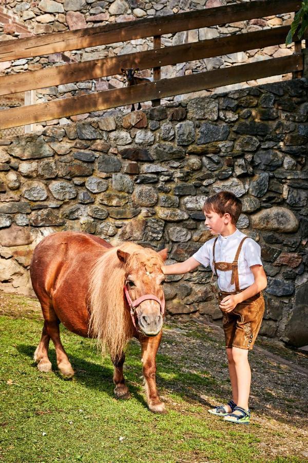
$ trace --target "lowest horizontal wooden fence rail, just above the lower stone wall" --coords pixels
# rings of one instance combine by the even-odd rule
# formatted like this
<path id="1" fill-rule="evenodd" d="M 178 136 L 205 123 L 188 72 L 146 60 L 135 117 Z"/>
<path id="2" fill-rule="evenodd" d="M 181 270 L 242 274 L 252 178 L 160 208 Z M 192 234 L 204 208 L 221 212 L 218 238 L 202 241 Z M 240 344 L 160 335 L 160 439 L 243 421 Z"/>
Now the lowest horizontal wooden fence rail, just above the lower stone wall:
<path id="1" fill-rule="evenodd" d="M 116 108 L 117 106 L 139 101 L 198 92 L 247 80 L 291 73 L 302 68 L 302 55 L 294 54 L 283 58 L 268 59 L 224 69 L 215 69 L 205 73 L 191 74 L 190 76 L 162 79 L 157 82 L 117 88 L 116 90 L 22 106 L 22 108 L 0 111 L 0 129 Z"/>

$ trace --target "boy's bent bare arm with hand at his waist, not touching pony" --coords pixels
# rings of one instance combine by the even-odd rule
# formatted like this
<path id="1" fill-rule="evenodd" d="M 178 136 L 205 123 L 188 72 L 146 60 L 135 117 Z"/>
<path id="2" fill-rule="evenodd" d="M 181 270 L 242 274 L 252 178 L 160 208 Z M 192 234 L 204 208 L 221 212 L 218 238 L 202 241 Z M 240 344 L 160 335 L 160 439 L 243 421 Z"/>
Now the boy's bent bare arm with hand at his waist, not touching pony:
<path id="1" fill-rule="evenodd" d="M 262 265 L 252 265 L 251 271 L 253 272 L 255 281 L 251 286 L 242 291 L 239 294 L 234 294 L 232 296 L 226 296 L 220 302 L 220 308 L 224 312 L 231 312 L 239 302 L 243 302 L 249 297 L 255 296 L 257 293 L 262 291 L 267 286 L 267 278 Z"/>

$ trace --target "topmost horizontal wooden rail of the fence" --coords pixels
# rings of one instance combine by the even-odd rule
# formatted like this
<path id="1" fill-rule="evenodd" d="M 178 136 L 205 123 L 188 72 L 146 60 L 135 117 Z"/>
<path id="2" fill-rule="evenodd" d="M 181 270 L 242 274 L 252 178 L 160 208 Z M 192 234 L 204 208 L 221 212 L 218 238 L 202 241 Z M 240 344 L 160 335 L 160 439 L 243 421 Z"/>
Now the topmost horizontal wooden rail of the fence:
<path id="1" fill-rule="evenodd" d="M 244 2 L 124 24 L 108 24 L 74 31 L 53 32 L 34 38 L 17 39 L 17 41 L 9 40 L 1 43 L 0 62 L 289 13 L 298 10 L 300 6 L 300 0 L 256 0 L 249 4 Z"/>

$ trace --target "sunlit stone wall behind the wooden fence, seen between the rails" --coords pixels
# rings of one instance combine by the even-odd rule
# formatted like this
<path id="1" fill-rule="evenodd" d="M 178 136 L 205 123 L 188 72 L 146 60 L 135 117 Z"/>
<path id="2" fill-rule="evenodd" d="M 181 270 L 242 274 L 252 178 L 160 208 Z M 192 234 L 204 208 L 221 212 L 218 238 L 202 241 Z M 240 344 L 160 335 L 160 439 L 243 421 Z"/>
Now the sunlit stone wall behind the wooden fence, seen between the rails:
<path id="1" fill-rule="evenodd" d="M 244 0 L 240 0 L 244 1 Z M 0 7 L 0 41 L 16 39 L 18 37 L 29 37 L 32 34 L 57 32 L 64 30 L 74 30 L 84 27 L 111 24 L 117 22 L 133 21 L 144 17 L 162 16 L 167 14 L 177 14 L 183 11 L 193 11 L 203 8 L 218 7 L 234 3 L 233 0 L 32 0 L 16 1 L 6 0 L 4 7 Z M 1 14 L 3 12 L 3 14 Z M 5 13 L 5 14 L 4 14 Z M 3 17 L 11 18 L 9 22 Z M 178 32 L 176 34 L 166 34 L 162 37 L 162 46 L 180 45 L 187 42 L 223 37 L 237 33 L 252 32 L 266 28 L 273 28 L 281 25 L 290 24 L 291 14 L 280 14 L 269 16 L 266 19 L 254 19 L 250 21 L 236 22 L 225 26 L 205 27 L 190 31 Z M 24 32 L 22 27 L 27 28 Z M 152 38 L 132 40 L 130 42 L 120 42 L 104 46 L 89 47 L 82 50 L 72 50 L 63 53 L 55 53 L 49 56 L 35 58 L 23 58 L 15 61 L 0 63 L 0 75 L 21 73 L 25 70 L 36 70 L 43 67 L 50 67 L 59 64 L 87 61 L 97 58 L 119 56 L 127 53 L 145 51 L 152 48 Z M 205 70 L 228 67 L 231 65 L 265 60 L 271 57 L 291 55 L 292 47 L 285 47 L 284 44 L 265 47 L 263 49 L 238 52 L 230 55 L 223 55 L 204 60 L 180 63 L 175 66 L 162 67 L 161 78 L 171 78 L 184 76 Z M 152 70 L 142 71 L 140 77 L 151 77 Z M 276 76 L 275 81 L 290 78 L 289 75 Z M 243 85 L 257 85 L 273 81 L 273 78 L 249 81 L 244 84 L 234 84 L 231 88 L 241 88 Z M 74 82 L 64 85 L 43 88 L 36 92 L 37 102 L 47 102 L 54 98 L 68 98 L 94 91 L 110 90 L 126 85 L 123 76 L 110 76 L 84 82 Z M 222 90 L 222 89 L 221 89 Z M 221 91 L 220 90 L 220 91 Z M 230 89 L 229 89 L 230 90 Z M 211 91 L 203 91 L 198 95 L 210 95 Z M 162 104 L 168 101 L 181 101 L 183 99 L 197 95 L 179 95 L 162 100 Z M 3 100 L 3 102 L 2 102 Z M 0 98 L 0 106 L 12 106 L 11 101 Z M 142 103 L 143 108 L 150 106 L 150 102 Z M 70 118 L 48 121 L 47 125 L 57 123 L 65 124 L 69 121 L 79 121 L 88 117 L 101 115 L 102 112 L 86 113 Z M 42 126 L 46 126 L 43 123 Z M 36 130 L 40 129 L 36 126 Z"/>

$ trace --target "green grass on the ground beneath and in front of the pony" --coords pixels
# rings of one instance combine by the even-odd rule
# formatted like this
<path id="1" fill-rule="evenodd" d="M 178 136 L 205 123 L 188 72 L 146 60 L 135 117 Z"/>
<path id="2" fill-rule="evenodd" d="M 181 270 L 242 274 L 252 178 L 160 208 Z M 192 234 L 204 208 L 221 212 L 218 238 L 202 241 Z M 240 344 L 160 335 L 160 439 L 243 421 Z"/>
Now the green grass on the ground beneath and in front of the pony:
<path id="1" fill-rule="evenodd" d="M 155 415 L 144 400 L 140 348 L 131 343 L 125 376 L 128 401 L 113 396 L 112 365 L 102 363 L 92 341 L 62 330 L 74 369 L 66 381 L 56 371 L 41 373 L 33 364 L 42 321 L 0 317 L 0 461 L 197 462 L 261 461 L 254 427 L 245 430 L 208 416 L 196 389 L 209 393 L 219 384 L 208 372 L 186 373 L 159 354 L 158 386 L 168 413 Z M 252 431 L 253 430 L 253 431 Z M 256 428 L 257 430 L 257 428 Z M 262 460 L 263 461 L 263 460 Z M 277 463 L 295 463 L 296 457 Z"/>

